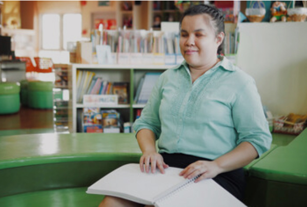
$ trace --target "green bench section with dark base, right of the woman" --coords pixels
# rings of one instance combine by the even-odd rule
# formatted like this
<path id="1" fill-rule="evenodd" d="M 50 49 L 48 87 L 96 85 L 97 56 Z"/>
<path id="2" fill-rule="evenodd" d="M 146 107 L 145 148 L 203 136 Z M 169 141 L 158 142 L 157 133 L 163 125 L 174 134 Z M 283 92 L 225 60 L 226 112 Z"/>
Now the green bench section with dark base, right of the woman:
<path id="1" fill-rule="evenodd" d="M 253 207 L 307 206 L 307 129 L 252 165 L 246 200 Z"/>

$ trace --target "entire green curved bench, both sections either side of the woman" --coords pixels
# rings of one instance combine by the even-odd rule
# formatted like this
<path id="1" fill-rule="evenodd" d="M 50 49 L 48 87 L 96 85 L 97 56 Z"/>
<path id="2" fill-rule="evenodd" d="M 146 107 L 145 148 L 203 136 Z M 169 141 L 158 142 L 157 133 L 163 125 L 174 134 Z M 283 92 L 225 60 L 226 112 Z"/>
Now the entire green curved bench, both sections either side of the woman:
<path id="1" fill-rule="evenodd" d="M 307 131 L 244 167 L 251 207 L 307 206 Z M 134 134 L 29 134 L 0 137 L 0 206 L 97 206 L 86 189 L 139 161 Z"/>

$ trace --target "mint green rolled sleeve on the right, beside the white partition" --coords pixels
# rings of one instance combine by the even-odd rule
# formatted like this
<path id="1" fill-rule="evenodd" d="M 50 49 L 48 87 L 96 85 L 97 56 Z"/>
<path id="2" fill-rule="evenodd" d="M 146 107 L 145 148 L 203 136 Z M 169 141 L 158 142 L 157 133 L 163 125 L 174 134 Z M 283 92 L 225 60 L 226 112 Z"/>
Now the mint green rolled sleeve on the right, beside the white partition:
<path id="1" fill-rule="evenodd" d="M 238 133 L 237 144 L 250 142 L 259 157 L 270 149 L 272 135 L 253 79 L 236 94 L 232 116 Z"/>

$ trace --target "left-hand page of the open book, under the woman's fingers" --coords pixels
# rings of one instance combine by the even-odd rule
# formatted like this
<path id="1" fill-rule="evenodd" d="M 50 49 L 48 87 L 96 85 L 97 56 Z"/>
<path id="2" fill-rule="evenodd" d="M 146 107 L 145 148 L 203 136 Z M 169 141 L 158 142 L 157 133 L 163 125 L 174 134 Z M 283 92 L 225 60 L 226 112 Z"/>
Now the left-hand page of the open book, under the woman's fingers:
<path id="1" fill-rule="evenodd" d="M 165 174 L 142 173 L 139 164 L 126 164 L 101 178 L 87 193 L 112 195 L 143 204 L 153 204 L 162 192 L 176 188 L 187 179 L 179 176 L 182 169 L 167 168 Z"/>

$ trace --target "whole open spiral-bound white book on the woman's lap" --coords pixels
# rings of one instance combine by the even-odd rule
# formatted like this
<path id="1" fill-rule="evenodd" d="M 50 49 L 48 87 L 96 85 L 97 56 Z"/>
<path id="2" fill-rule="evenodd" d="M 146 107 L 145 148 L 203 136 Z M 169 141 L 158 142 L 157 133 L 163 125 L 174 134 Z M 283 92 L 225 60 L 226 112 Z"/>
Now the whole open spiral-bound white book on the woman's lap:
<path id="1" fill-rule="evenodd" d="M 169 167 L 165 174 L 142 173 L 139 164 L 126 164 L 92 184 L 87 193 L 109 195 L 156 207 L 244 207 L 213 179 L 194 182 L 198 177 L 179 176 L 180 168 Z M 246 206 L 245 206 L 246 207 Z"/>

